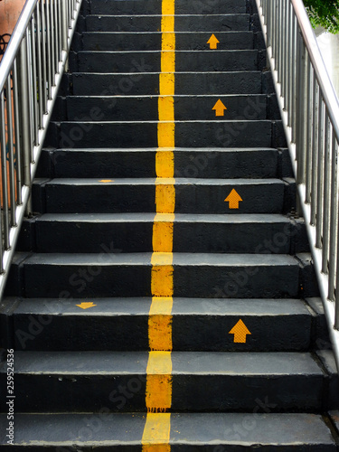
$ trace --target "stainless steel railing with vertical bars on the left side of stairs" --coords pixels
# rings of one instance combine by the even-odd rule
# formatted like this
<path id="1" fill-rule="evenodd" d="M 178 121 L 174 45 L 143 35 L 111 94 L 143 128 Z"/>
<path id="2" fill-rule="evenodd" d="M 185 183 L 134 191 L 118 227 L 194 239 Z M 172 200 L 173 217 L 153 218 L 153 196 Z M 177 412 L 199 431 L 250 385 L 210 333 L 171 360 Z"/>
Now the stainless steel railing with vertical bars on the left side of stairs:
<path id="1" fill-rule="evenodd" d="M 0 62 L 0 298 L 81 0 L 27 0 Z"/>

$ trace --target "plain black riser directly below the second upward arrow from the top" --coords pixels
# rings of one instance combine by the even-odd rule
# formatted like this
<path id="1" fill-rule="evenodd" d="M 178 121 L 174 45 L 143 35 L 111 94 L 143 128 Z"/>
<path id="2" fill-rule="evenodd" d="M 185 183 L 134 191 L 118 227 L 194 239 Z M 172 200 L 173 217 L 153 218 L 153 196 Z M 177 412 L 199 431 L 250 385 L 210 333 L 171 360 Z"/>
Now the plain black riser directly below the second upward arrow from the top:
<path id="1" fill-rule="evenodd" d="M 45 146 L 54 147 L 156 147 L 158 121 L 52 122 Z M 283 147 L 279 122 L 240 119 L 224 121 L 175 121 L 174 140 L 178 147 Z"/>

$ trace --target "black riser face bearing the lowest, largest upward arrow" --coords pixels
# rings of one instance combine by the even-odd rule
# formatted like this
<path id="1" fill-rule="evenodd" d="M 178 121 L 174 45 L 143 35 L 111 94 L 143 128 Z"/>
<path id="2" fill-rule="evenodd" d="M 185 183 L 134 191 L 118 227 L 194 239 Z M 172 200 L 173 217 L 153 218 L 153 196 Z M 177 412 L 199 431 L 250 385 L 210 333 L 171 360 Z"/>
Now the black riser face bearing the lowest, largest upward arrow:
<path id="1" fill-rule="evenodd" d="M 93 309 L 81 315 L 49 315 L 48 308 L 41 315 L 15 314 L 15 350 L 148 350 L 148 315 L 90 315 Z M 251 333 L 246 344 L 234 343 L 229 334 L 240 318 Z M 173 349 L 183 352 L 306 351 L 310 336 L 310 315 L 174 315 L 172 321 Z"/>

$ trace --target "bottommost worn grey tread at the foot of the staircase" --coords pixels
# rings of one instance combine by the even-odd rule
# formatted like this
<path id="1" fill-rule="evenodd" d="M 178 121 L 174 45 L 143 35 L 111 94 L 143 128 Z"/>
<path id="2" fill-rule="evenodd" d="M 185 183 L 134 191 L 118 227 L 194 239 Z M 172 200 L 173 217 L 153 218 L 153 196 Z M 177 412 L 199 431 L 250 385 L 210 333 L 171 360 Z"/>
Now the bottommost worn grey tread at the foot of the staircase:
<path id="1" fill-rule="evenodd" d="M 259 400 L 262 403 L 262 400 Z M 171 414 L 172 450 L 241 452 L 334 452 L 330 429 L 320 415 L 299 413 L 183 413 Z M 269 408 L 267 408 L 269 410 Z M 5 415 L 0 415 L 5 423 Z M 140 450 L 146 415 L 142 413 L 16 414 L 14 445 L 34 450 L 56 447 L 96 447 L 98 450 Z M 90 438 L 89 438 L 90 436 Z M 5 434 L 0 437 L 3 450 Z M 43 445 L 43 446 L 42 446 Z M 226 448 L 225 448 L 226 447 Z M 13 447 L 12 447 L 13 450 Z"/>

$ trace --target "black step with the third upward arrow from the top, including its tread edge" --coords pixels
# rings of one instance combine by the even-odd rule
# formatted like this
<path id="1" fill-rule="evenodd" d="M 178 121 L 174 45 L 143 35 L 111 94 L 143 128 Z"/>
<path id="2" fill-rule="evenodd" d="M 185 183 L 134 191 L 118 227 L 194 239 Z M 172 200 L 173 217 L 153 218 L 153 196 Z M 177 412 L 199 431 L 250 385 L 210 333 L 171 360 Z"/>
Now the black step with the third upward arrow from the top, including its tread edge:
<path id="1" fill-rule="evenodd" d="M 279 179 L 52 179 L 35 180 L 33 209 L 42 213 L 155 212 L 156 186 L 173 185 L 176 213 L 280 213 Z M 235 190 L 242 201 L 225 201 Z M 160 212 L 161 213 L 161 212 Z"/>

